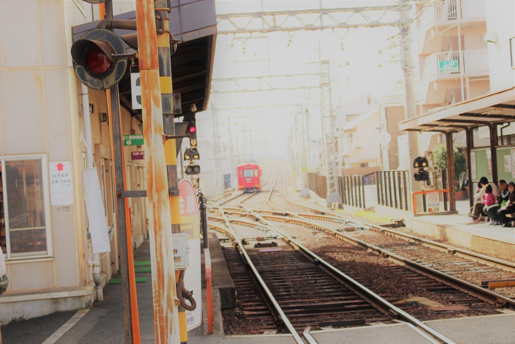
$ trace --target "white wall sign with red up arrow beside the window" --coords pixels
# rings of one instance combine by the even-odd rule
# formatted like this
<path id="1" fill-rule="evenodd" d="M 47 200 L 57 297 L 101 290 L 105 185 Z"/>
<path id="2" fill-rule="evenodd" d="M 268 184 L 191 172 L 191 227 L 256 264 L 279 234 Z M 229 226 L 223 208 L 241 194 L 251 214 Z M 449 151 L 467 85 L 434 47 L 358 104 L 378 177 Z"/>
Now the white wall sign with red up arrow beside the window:
<path id="1" fill-rule="evenodd" d="M 50 175 L 50 204 L 73 204 L 72 162 L 50 161 L 48 163 Z"/>

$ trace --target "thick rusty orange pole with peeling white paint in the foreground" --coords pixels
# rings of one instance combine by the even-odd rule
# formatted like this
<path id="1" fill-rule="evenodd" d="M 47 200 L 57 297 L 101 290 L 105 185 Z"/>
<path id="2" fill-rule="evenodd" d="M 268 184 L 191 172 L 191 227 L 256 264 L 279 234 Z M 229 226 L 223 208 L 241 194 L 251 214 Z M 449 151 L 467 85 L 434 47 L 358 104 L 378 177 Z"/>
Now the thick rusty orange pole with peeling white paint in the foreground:
<path id="1" fill-rule="evenodd" d="M 161 85 L 152 0 L 136 1 L 140 60 L 143 136 L 147 169 L 150 265 L 156 343 L 179 343 L 176 277 L 170 225 L 170 203 L 161 105 Z"/>

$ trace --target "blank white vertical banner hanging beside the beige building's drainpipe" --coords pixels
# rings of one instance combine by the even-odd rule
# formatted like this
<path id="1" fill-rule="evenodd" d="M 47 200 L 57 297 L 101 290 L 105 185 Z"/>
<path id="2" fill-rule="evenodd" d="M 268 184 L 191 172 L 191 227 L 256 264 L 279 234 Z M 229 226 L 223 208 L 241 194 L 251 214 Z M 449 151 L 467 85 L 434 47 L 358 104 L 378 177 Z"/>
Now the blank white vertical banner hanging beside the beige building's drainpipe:
<path id="1" fill-rule="evenodd" d="M 91 235 L 93 253 L 111 252 L 109 244 L 109 228 L 104 212 L 104 202 L 100 193 L 100 181 L 96 168 L 82 171 L 84 198 L 88 211 L 88 224 Z"/>

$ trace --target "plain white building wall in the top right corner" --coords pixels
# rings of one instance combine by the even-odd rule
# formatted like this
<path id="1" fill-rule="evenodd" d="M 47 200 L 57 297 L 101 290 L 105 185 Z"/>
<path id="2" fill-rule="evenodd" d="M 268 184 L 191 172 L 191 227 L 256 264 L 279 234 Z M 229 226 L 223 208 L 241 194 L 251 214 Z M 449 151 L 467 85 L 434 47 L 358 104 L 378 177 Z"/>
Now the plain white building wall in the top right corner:
<path id="1" fill-rule="evenodd" d="M 515 37 L 513 13 L 515 2 L 512 0 L 486 2 L 487 34 L 497 36 L 495 43 L 487 43 L 491 92 L 515 86 L 515 69 L 511 67 L 509 46 L 510 38 Z"/>

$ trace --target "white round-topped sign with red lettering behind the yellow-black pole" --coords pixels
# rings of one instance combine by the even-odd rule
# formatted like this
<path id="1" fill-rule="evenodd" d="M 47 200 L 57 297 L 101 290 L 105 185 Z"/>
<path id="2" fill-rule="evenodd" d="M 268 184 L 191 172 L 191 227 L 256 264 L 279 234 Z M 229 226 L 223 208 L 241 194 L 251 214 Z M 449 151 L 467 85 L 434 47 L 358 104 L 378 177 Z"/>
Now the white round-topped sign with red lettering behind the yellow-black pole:
<path id="1" fill-rule="evenodd" d="M 200 270 L 200 212 L 198 210 L 197 193 L 190 181 L 179 182 L 179 214 L 181 233 L 188 235 L 190 265 L 184 273 L 184 287 L 193 290 L 193 298 L 197 308 L 193 312 L 186 310 L 187 330 L 193 330 L 202 323 L 202 281 Z"/>

